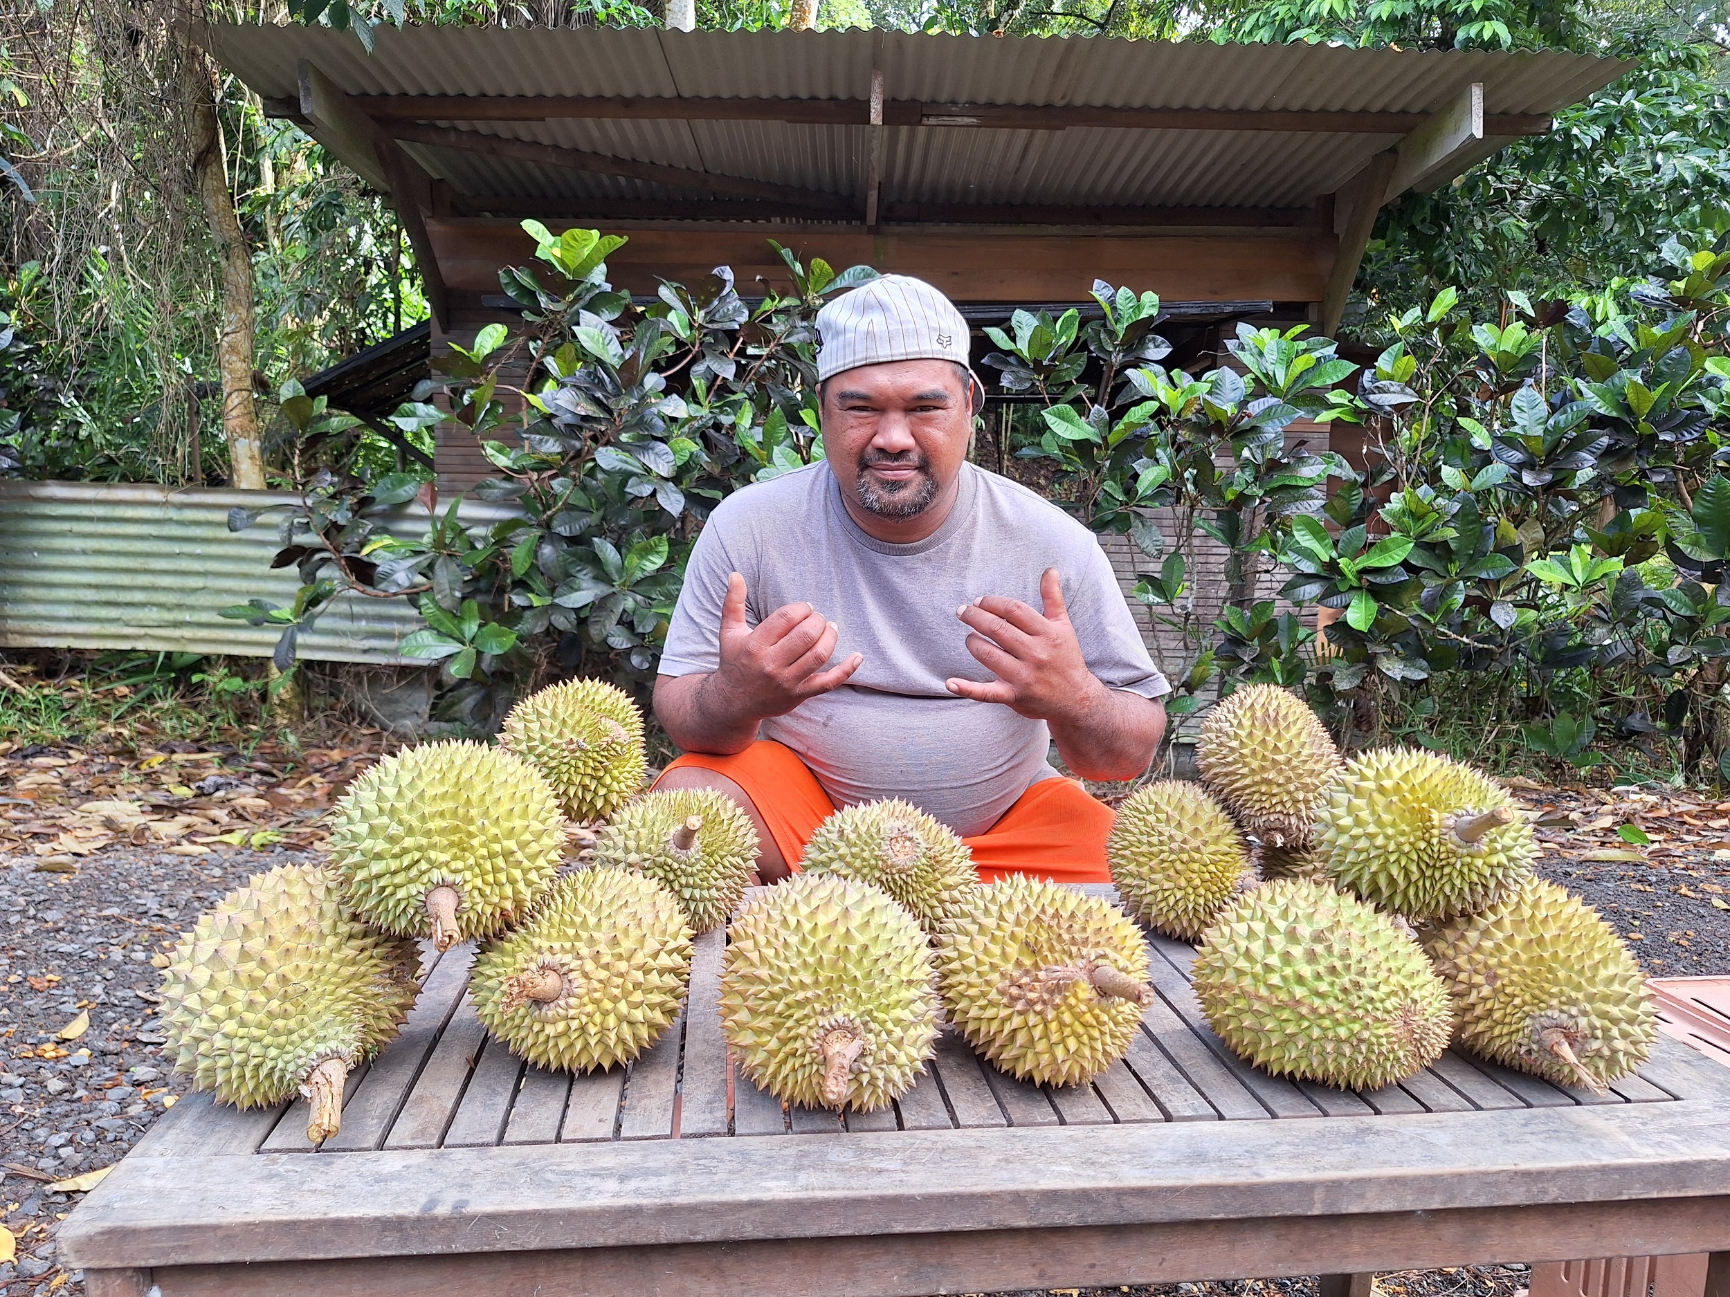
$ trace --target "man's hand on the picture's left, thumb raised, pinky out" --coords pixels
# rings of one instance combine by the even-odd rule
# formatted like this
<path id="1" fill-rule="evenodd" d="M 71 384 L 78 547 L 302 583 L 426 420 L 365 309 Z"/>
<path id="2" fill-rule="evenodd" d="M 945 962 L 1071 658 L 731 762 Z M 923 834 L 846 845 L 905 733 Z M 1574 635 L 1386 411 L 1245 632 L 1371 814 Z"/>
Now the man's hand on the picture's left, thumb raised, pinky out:
<path id="1" fill-rule="evenodd" d="M 775 609 L 756 628 L 746 623 L 746 579 L 727 578 L 721 602 L 721 664 L 702 687 L 704 704 L 720 704 L 740 721 L 784 716 L 806 699 L 848 681 L 865 657 L 851 654 L 823 669 L 836 650 L 839 628 L 810 604 Z"/>

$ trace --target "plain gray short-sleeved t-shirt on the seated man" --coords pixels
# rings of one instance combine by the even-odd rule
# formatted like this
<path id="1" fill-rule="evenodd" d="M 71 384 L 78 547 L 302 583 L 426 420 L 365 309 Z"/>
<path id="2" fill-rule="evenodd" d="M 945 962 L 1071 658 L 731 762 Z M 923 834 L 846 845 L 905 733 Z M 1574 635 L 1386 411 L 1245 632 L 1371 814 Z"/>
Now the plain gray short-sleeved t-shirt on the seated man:
<path id="1" fill-rule="evenodd" d="M 955 610 L 979 595 L 1040 609 L 1047 567 L 1062 576 L 1088 669 L 1147 699 L 1169 692 L 1093 534 L 972 463 L 943 526 L 913 545 L 860 531 L 822 462 L 730 495 L 697 536 L 661 673 L 720 666 L 728 572 L 746 579 L 753 626 L 784 604 L 810 604 L 841 628 L 830 666 L 853 652 L 865 662 L 841 688 L 763 721 L 759 735 L 798 752 L 837 806 L 905 797 L 957 834 L 981 834 L 1057 771 L 1045 759 L 1045 721 L 943 687 L 991 678 L 967 652 Z"/>

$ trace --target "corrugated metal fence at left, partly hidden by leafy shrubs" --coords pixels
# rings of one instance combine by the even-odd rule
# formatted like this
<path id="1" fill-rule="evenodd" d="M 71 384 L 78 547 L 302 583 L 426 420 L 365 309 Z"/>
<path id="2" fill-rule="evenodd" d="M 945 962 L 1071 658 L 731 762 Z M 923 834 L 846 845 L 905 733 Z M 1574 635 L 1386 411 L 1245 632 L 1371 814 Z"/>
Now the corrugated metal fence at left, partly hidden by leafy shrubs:
<path id="1" fill-rule="evenodd" d="M 299 579 L 292 567 L 270 569 L 280 514 L 234 533 L 228 510 L 294 500 L 284 491 L 0 482 L 0 647 L 268 657 L 280 631 L 218 610 L 251 598 L 289 605 Z M 465 502 L 460 517 L 486 524 L 502 512 Z M 426 522 L 419 507 L 391 515 L 405 534 Z M 408 600 L 344 595 L 301 636 L 299 655 L 417 662 L 398 645 L 422 624 Z"/>

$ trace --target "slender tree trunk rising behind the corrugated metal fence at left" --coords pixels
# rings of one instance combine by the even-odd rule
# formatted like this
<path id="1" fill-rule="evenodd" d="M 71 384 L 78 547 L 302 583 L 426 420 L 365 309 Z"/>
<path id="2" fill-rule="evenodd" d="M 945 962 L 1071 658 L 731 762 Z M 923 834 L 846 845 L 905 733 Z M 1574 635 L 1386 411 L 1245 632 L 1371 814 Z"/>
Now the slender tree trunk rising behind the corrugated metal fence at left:
<path id="1" fill-rule="evenodd" d="M 192 135 L 192 176 L 204 202 L 204 220 L 221 259 L 221 330 L 216 368 L 221 375 L 221 434 L 228 443 L 228 484 L 265 489 L 265 455 L 253 405 L 253 254 L 228 192 L 228 156 L 216 119 L 216 85 L 202 50 L 187 45 L 182 90 Z"/>

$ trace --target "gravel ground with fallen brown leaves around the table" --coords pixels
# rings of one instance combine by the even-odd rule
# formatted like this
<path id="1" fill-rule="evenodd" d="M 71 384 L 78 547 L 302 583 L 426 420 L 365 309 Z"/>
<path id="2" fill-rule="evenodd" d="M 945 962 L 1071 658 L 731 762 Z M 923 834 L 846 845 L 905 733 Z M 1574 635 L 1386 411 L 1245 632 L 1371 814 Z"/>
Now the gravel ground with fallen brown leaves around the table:
<path id="1" fill-rule="evenodd" d="M 320 820 L 382 751 L 0 752 L 0 1211 L 7 1297 L 81 1294 L 50 1188 L 118 1162 L 187 1089 L 163 1058 L 151 955 L 247 875 L 315 859 Z M 1585 896 L 1659 975 L 1730 974 L 1730 802 L 1519 789 L 1545 875 Z M 1624 840 L 1624 827 L 1645 842 Z M 0 1240 L 3 1245 L 3 1240 Z M 1524 1266 L 1384 1275 L 1389 1297 L 1515 1297 Z M 1313 1280 L 1067 1290 L 1064 1297 L 1313 1297 Z M 1033 1297 L 1033 1295 L 1016 1295 Z M 1040 1295 L 1043 1297 L 1043 1295 Z"/>

